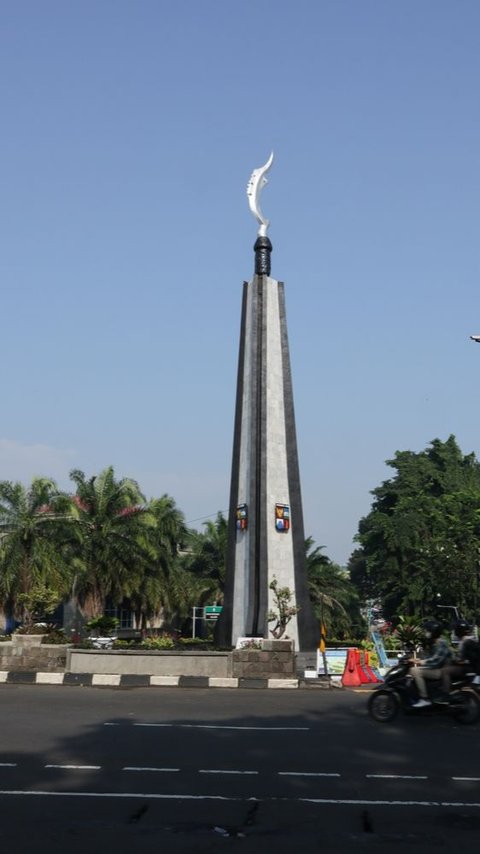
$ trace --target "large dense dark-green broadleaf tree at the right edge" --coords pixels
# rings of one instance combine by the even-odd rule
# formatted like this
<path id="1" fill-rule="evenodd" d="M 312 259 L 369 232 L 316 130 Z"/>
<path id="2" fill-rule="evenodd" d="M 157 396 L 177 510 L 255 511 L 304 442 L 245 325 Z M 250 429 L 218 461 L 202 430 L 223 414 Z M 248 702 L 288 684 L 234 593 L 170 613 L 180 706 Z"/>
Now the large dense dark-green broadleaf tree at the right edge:
<path id="1" fill-rule="evenodd" d="M 450 436 L 420 453 L 397 451 L 387 465 L 395 476 L 373 490 L 372 509 L 359 524 L 355 583 L 380 599 L 389 617 L 431 614 L 436 604 L 474 617 L 479 463 Z"/>

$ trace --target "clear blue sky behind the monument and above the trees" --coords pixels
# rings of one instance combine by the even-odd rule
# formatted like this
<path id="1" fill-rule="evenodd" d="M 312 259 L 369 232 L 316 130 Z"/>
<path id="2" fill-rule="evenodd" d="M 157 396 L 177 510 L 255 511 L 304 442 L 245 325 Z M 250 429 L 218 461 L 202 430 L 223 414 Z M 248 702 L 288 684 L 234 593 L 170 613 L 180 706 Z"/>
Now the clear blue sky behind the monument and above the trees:
<path id="1" fill-rule="evenodd" d="M 343 563 L 397 449 L 479 454 L 479 34 L 477 0 L 1 3 L 0 479 L 227 510 L 272 149 L 306 533 Z"/>

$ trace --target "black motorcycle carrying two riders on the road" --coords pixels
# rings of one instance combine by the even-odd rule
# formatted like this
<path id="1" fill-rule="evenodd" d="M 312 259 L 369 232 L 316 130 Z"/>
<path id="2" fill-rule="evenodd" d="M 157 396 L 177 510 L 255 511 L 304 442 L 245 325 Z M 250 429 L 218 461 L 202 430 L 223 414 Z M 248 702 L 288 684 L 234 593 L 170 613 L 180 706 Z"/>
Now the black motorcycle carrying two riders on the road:
<path id="1" fill-rule="evenodd" d="M 443 712 L 450 714 L 458 723 L 475 724 L 480 718 L 480 699 L 476 690 L 479 686 L 474 684 L 475 678 L 474 673 L 467 673 L 453 681 L 447 702 L 436 683 L 427 683 L 432 705 L 416 709 L 414 703 L 418 700 L 418 694 L 410 675 L 410 659 L 405 656 L 387 672 L 384 682 L 370 694 L 368 711 L 378 723 L 390 723 L 402 710 L 412 714 Z"/>

